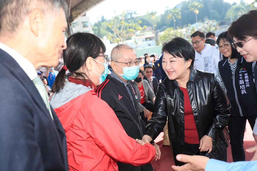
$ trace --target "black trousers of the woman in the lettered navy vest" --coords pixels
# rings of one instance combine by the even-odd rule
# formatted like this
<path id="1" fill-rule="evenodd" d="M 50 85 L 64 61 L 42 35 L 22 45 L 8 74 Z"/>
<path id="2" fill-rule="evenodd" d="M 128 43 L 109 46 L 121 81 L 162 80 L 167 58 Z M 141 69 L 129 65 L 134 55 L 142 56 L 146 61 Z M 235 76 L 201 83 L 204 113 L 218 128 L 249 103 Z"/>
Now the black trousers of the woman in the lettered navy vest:
<path id="1" fill-rule="evenodd" d="M 254 129 L 255 119 L 257 115 L 246 117 L 233 117 L 230 115 L 228 121 L 228 130 L 230 135 L 230 145 L 232 151 L 233 162 L 245 161 L 244 153 L 244 131 L 246 126 L 246 119 Z"/>

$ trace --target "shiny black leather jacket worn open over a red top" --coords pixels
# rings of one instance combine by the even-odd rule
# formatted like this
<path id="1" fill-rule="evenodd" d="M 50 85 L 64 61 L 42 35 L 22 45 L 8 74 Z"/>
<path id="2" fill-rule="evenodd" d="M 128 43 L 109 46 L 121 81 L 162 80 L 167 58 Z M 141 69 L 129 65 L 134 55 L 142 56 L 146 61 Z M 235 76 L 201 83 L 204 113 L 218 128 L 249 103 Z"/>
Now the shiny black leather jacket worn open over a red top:
<path id="1" fill-rule="evenodd" d="M 224 88 L 216 75 L 195 69 L 191 69 L 186 86 L 199 141 L 204 135 L 212 137 L 212 151 L 207 156 L 217 158 L 229 142 L 226 126 L 231 106 Z M 168 116 L 174 159 L 177 154 L 184 154 L 184 94 L 176 80 L 166 78 L 159 84 L 153 111 L 146 125 L 146 135 L 154 140 L 164 128 Z M 175 164 L 181 165 L 176 159 Z"/>

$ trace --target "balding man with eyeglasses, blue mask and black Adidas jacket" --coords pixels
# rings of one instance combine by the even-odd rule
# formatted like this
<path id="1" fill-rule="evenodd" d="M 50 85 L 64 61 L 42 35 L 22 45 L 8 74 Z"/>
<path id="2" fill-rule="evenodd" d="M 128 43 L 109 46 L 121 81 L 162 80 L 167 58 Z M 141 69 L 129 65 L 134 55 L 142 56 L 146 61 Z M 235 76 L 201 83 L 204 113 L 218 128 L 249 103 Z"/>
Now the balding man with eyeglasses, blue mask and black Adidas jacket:
<path id="1" fill-rule="evenodd" d="M 114 110 L 128 136 L 142 139 L 145 134 L 145 123 L 139 115 L 139 102 L 136 95 L 134 80 L 138 76 L 139 64 L 136 52 L 128 45 L 119 44 L 111 52 L 113 71 L 95 90 L 97 96 Z M 101 119 L 101 118 L 100 118 Z M 160 148 L 151 142 L 156 149 L 156 158 L 160 159 Z M 133 166 L 118 162 L 119 170 L 153 171 L 151 164 Z"/>

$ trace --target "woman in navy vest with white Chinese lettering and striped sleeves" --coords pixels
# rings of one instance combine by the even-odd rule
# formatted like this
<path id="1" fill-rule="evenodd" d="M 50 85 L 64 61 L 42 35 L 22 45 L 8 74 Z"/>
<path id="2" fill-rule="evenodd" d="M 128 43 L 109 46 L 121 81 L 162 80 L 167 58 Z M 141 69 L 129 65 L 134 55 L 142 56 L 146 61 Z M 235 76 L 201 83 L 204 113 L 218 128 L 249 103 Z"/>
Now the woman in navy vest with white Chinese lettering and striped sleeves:
<path id="1" fill-rule="evenodd" d="M 217 38 L 217 49 L 223 56 L 223 60 L 218 64 L 218 77 L 231 104 L 228 130 L 233 161 L 237 162 L 245 161 L 244 131 L 246 120 L 254 129 L 257 118 L 257 93 L 253 76 L 255 62 L 246 62 L 231 46 L 232 42 L 228 32 L 221 33 Z"/>

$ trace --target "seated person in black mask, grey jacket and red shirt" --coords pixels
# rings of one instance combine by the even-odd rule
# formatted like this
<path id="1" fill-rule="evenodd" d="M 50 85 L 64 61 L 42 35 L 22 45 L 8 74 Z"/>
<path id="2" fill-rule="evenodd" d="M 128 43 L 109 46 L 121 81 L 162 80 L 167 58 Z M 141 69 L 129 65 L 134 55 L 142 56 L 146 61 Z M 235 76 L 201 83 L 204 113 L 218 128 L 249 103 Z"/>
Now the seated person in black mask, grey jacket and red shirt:
<path id="1" fill-rule="evenodd" d="M 152 112 L 154 106 L 154 92 L 152 91 L 149 83 L 143 80 L 144 72 L 139 70 L 138 76 L 134 79 L 134 85 L 136 87 L 136 95 L 139 102 L 139 111 L 142 120 L 146 123 L 148 117 L 150 116 L 150 111 Z"/>

